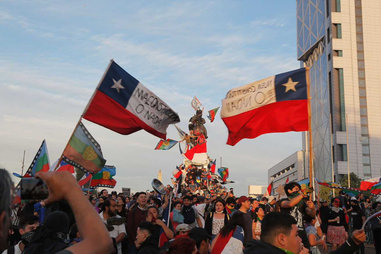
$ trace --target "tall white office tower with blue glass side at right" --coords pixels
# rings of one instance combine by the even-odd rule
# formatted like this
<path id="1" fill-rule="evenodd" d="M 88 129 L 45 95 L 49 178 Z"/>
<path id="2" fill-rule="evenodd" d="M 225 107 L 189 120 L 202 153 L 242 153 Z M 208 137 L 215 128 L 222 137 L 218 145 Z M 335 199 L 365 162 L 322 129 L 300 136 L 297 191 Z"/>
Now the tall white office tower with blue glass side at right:
<path id="1" fill-rule="evenodd" d="M 321 181 L 332 181 L 332 170 L 337 181 L 348 168 L 363 179 L 381 176 L 380 16 L 379 0 L 296 0 L 297 58 L 310 68 L 312 159 Z"/>

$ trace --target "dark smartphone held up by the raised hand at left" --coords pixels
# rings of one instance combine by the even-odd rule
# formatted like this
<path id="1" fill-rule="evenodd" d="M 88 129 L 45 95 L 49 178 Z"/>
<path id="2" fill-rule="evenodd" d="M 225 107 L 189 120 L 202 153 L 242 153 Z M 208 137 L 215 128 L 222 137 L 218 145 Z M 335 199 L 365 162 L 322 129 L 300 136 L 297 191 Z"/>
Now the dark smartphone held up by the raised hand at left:
<path id="1" fill-rule="evenodd" d="M 49 191 L 46 183 L 40 178 L 21 179 L 21 199 L 46 199 Z"/>

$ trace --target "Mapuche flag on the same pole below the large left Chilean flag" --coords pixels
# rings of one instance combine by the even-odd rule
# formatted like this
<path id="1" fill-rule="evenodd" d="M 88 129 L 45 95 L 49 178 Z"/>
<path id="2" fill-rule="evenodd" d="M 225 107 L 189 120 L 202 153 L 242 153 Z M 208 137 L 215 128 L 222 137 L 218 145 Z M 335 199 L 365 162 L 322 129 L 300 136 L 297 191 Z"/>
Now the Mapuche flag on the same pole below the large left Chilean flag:
<path id="1" fill-rule="evenodd" d="M 90 172 L 92 175 L 98 173 L 106 164 L 101 146 L 82 122 L 75 128 L 64 150 L 62 160 L 85 172 Z"/>

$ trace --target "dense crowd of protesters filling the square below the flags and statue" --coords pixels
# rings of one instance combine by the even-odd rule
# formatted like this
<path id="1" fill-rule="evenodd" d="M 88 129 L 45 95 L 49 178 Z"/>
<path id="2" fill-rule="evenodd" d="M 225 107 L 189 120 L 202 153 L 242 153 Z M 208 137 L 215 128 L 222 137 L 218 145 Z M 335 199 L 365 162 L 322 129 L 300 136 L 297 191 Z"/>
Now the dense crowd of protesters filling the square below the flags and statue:
<path id="1" fill-rule="evenodd" d="M 69 172 L 42 172 L 37 177 L 46 182 L 48 198 L 10 206 L 11 180 L 0 170 L 3 253 L 306 254 L 319 253 L 319 244 L 327 249 L 326 241 L 332 244 L 330 253 L 363 253 L 363 206 L 368 214 L 381 209 L 379 202 L 348 200 L 342 193 L 329 204 L 314 203 L 309 201 L 312 187 L 301 192 L 296 182 L 284 186 L 283 199 L 236 197 L 232 188 L 227 191 L 208 180 L 196 192 L 203 187 L 201 179 L 197 181 L 199 172 L 202 175 L 203 169 L 190 166 L 179 180 L 181 190 L 174 182 L 163 195 L 142 191 L 131 197 L 107 190 L 91 196 Z M 351 225 L 346 220 L 349 214 Z M 381 243 L 379 221 L 377 217 L 371 221 L 376 253 Z"/>

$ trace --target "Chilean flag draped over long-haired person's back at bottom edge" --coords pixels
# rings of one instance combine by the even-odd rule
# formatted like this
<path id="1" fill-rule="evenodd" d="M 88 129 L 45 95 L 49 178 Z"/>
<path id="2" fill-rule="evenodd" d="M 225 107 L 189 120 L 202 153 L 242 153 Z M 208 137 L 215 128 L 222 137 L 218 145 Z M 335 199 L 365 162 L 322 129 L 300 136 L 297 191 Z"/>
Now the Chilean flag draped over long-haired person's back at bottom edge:
<path id="1" fill-rule="evenodd" d="M 243 228 L 236 226 L 227 236 L 218 236 L 217 242 L 210 254 L 236 254 L 242 253 L 243 249 Z"/>

